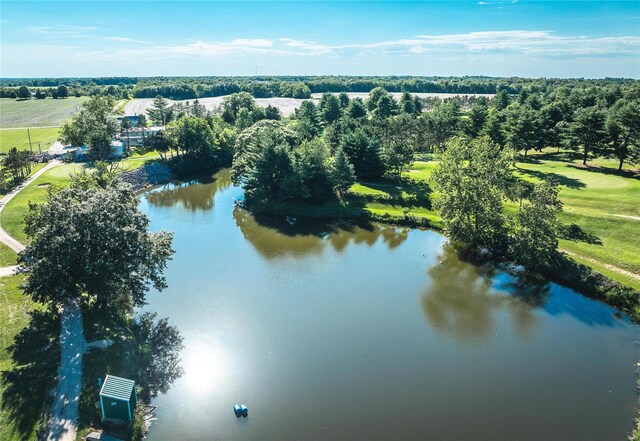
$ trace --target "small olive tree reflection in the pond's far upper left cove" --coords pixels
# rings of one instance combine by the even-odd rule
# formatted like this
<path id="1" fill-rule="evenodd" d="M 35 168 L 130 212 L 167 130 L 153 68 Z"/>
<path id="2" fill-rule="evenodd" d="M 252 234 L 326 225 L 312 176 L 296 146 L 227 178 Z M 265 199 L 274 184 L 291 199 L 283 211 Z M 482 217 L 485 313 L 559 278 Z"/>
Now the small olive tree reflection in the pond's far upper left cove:
<path id="1" fill-rule="evenodd" d="M 230 186 L 231 169 L 224 169 L 210 178 L 165 185 L 145 197 L 151 205 L 158 207 L 180 205 L 191 211 L 208 211 L 213 208 L 216 193 Z"/>

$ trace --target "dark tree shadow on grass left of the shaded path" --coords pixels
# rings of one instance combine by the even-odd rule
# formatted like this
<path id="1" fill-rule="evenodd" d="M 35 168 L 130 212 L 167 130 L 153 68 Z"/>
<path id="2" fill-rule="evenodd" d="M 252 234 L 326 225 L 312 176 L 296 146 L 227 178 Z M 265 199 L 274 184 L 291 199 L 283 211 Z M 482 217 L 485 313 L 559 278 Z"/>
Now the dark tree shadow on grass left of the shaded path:
<path id="1" fill-rule="evenodd" d="M 15 424 L 19 439 L 29 439 L 56 385 L 60 360 L 60 320 L 51 311 L 32 311 L 29 326 L 8 348 L 13 368 L 0 373 L 2 409 Z"/>

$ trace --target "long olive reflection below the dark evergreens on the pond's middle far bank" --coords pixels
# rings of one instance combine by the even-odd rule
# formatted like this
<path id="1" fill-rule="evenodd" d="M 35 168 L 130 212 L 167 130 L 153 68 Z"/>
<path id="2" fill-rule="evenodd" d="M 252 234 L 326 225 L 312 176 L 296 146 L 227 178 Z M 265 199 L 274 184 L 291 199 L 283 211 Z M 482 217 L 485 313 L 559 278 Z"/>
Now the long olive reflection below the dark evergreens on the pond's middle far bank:
<path id="1" fill-rule="evenodd" d="M 244 237 L 265 258 L 319 255 L 327 246 L 341 252 L 350 243 L 373 246 L 382 238 L 389 249 L 402 244 L 408 228 L 378 224 L 354 225 L 319 219 L 291 218 L 257 214 L 236 208 L 236 225 Z"/>

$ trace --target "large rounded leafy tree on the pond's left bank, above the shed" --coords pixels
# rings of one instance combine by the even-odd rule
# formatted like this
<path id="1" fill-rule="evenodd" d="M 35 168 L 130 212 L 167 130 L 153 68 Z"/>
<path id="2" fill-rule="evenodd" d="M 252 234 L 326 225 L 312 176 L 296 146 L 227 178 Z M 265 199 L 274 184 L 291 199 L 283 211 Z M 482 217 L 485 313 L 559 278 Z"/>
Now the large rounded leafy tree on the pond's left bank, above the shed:
<path id="1" fill-rule="evenodd" d="M 171 233 L 150 233 L 133 190 L 78 183 L 49 192 L 25 218 L 25 293 L 39 302 L 145 302 L 173 253 Z"/>

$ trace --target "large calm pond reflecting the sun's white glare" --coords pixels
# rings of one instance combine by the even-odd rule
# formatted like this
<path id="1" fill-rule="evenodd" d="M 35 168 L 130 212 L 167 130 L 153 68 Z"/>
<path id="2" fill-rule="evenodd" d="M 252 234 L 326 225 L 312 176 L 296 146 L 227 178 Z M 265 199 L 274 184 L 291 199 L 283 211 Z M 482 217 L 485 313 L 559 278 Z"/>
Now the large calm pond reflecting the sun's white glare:
<path id="1" fill-rule="evenodd" d="M 149 440 L 625 439 L 638 328 L 445 237 L 260 219 L 228 171 L 142 198 L 175 231 L 148 309 L 185 338 Z M 232 407 L 245 404 L 249 417 Z"/>

